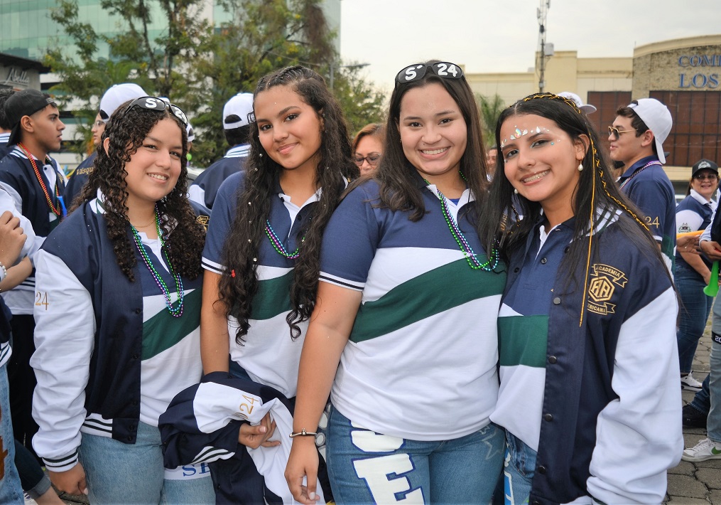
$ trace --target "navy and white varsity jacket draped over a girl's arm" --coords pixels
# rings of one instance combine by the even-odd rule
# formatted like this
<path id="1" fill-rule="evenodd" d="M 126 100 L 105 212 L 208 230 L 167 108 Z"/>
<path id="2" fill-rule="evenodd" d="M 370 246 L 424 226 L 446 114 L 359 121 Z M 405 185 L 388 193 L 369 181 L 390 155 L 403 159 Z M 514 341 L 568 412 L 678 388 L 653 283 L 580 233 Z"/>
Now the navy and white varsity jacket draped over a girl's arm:
<path id="1" fill-rule="evenodd" d="M 260 423 L 268 412 L 276 424 L 271 440 L 280 445 L 239 444 L 240 425 Z M 210 463 L 217 504 L 297 503 L 283 476 L 291 453 L 293 403 L 273 387 L 213 372 L 176 395 L 159 428 L 167 468 Z M 317 493 L 326 503 L 330 487 L 320 456 L 319 462 Z"/>

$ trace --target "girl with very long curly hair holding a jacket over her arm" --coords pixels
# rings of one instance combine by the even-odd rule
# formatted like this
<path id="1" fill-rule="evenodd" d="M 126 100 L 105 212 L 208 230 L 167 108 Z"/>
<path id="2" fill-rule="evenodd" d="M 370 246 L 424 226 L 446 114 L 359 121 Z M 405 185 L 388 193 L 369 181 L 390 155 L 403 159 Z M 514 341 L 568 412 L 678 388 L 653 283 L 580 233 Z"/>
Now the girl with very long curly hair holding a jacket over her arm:
<path id="1" fill-rule="evenodd" d="M 315 71 L 291 66 L 268 74 L 253 108 L 248 161 L 218 190 L 203 250 L 200 352 L 205 374 L 219 372 L 205 379 L 230 374 L 292 399 L 315 307 L 322 234 L 358 168 L 340 106 Z M 288 433 L 273 436 L 275 421 L 241 423 L 236 442 L 254 449 L 289 442 Z M 248 456 L 244 447 L 229 450 L 236 459 Z M 251 471 L 257 475 L 243 474 L 246 487 Z M 221 492 L 237 501 L 232 486 L 226 482 Z M 282 487 L 273 491 L 288 494 Z"/>

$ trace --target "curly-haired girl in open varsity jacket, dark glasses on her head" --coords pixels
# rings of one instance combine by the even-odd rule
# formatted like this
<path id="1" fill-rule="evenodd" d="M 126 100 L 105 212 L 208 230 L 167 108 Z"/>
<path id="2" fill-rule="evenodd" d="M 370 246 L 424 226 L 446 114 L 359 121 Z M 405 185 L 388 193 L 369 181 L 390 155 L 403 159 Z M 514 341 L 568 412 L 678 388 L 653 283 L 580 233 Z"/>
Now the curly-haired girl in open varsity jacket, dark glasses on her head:
<path id="1" fill-rule="evenodd" d="M 33 446 L 93 504 L 212 504 L 207 467 L 166 470 L 158 418 L 198 382 L 201 224 L 185 198 L 182 111 L 113 113 L 80 205 L 37 253 Z"/>

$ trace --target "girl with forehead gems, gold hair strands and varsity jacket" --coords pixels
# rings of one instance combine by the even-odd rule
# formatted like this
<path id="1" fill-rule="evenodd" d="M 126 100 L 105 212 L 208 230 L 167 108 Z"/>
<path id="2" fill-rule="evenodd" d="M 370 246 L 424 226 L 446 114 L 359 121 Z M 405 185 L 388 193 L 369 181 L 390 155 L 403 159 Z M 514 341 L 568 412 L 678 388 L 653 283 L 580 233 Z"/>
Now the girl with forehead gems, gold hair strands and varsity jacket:
<path id="1" fill-rule="evenodd" d="M 495 139 L 483 242 L 508 257 L 491 416 L 506 431 L 505 503 L 660 504 L 683 445 L 660 250 L 573 100 L 518 100 Z"/>

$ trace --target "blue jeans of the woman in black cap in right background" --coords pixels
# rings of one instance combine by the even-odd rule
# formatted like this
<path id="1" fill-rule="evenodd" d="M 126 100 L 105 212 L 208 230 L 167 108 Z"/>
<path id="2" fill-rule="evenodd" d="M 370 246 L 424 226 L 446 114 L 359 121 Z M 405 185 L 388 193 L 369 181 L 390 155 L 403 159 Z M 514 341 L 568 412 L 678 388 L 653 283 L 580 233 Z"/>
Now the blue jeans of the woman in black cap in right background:
<path id="1" fill-rule="evenodd" d="M 686 375 L 691 372 L 696 346 L 699 338 L 704 334 L 714 299 L 704 294 L 706 287 L 704 279 L 689 265 L 676 263 L 676 273 L 673 278 L 676 281 L 678 297 L 681 298 L 676 332 L 678 364 L 681 375 Z"/>

